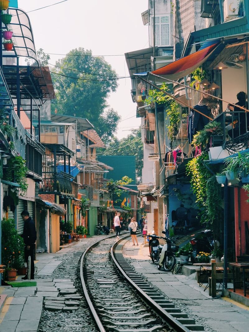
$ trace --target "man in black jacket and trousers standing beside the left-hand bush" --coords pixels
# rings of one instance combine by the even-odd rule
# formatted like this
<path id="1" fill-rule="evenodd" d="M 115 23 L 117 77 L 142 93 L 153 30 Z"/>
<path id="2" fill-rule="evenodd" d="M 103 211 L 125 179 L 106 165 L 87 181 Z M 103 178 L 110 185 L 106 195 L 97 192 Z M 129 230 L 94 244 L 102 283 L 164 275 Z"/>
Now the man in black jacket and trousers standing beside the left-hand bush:
<path id="1" fill-rule="evenodd" d="M 30 217 L 30 214 L 28 211 L 24 210 L 21 213 L 21 216 L 24 220 L 24 226 L 23 226 L 23 240 L 25 244 L 24 248 L 24 256 L 25 256 L 25 262 L 28 266 L 28 259 L 29 256 L 31 257 L 31 273 L 30 273 L 30 279 L 35 279 L 35 264 L 34 264 L 34 250 L 35 250 L 35 242 L 36 242 L 36 225 L 32 218 Z M 28 279 L 28 272 L 25 277 L 22 279 L 26 280 Z"/>

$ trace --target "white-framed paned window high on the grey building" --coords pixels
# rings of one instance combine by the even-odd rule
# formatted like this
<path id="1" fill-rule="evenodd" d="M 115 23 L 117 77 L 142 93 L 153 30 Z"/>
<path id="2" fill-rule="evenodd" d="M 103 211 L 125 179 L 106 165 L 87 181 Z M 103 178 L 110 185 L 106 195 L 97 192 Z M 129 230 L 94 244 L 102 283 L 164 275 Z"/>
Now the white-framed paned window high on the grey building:
<path id="1" fill-rule="evenodd" d="M 153 36 L 154 17 L 151 20 L 151 30 Z M 169 45 L 169 16 L 155 17 L 155 46 Z"/>

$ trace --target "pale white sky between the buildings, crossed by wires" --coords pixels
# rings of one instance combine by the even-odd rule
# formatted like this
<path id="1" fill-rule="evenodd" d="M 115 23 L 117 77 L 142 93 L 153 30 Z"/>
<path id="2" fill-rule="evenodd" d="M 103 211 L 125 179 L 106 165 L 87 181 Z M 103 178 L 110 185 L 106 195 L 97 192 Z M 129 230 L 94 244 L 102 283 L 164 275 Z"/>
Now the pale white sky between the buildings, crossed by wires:
<path id="1" fill-rule="evenodd" d="M 59 1 L 18 0 L 18 5 L 29 12 Z M 84 47 L 91 49 L 93 55 L 121 54 L 105 56 L 105 59 L 118 76 L 128 76 L 124 53 L 149 46 L 148 26 L 143 26 L 141 18 L 147 8 L 148 0 L 67 0 L 28 15 L 36 49 L 66 54 L 73 48 Z M 49 55 L 51 64 L 63 57 Z M 116 133 L 119 139 L 141 123 L 135 117 L 136 104 L 132 102 L 130 90 L 130 78 L 120 79 L 117 91 L 108 98 L 110 107 L 122 117 Z"/>

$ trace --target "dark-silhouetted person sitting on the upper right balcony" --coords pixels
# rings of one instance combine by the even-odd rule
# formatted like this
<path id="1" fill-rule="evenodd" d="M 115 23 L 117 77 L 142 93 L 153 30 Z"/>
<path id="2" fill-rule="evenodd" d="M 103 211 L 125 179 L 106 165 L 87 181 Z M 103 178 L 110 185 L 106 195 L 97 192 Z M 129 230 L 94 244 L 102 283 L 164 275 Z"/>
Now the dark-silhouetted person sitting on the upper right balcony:
<path id="1" fill-rule="evenodd" d="M 237 99 L 238 102 L 235 105 L 241 106 L 241 107 L 245 107 L 246 109 L 248 109 L 248 102 L 247 100 L 247 94 L 243 91 L 239 92 L 237 94 Z M 241 110 L 239 107 L 236 106 L 232 106 L 229 105 L 228 106 L 229 110 L 232 112 L 241 112 L 243 110 Z M 244 133 L 247 132 L 247 126 L 249 125 L 249 115 L 246 114 L 246 112 L 241 112 L 241 113 L 237 113 L 234 114 L 235 116 L 238 115 L 238 122 L 235 124 L 233 129 L 228 130 L 228 135 L 231 138 L 235 138 L 238 137 L 240 135 L 243 135 Z"/>

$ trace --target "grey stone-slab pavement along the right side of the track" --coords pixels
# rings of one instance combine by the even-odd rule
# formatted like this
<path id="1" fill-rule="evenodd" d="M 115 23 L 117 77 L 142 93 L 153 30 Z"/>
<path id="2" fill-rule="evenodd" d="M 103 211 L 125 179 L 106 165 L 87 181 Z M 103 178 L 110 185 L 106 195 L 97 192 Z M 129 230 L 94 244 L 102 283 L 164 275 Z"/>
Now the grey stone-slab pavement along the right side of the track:
<path id="1" fill-rule="evenodd" d="M 148 246 L 142 245 L 144 242 L 141 237 L 138 237 L 138 241 L 138 247 L 132 246 L 131 240 L 126 242 L 125 256 L 132 258 L 131 264 L 135 270 L 142 273 L 166 297 L 173 299 L 172 302 L 182 311 L 192 315 L 198 324 L 203 323 L 212 331 L 248 331 L 249 307 L 226 297 L 213 299 L 208 296 L 208 290 L 204 292 L 204 287 L 199 287 L 195 274 L 186 277 L 158 270 L 149 261 Z"/>

